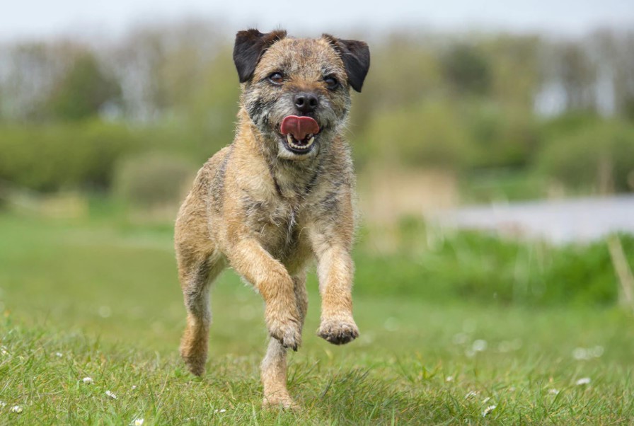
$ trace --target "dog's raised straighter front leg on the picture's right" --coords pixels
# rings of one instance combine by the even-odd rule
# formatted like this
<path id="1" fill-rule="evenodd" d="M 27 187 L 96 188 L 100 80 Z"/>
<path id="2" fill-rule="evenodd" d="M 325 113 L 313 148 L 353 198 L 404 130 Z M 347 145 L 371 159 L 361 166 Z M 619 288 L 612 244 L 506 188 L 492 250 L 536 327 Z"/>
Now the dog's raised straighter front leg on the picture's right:
<path id="1" fill-rule="evenodd" d="M 352 258 L 343 246 L 323 240 L 315 253 L 321 293 L 321 326 L 317 333 L 330 343 L 344 345 L 359 336 L 352 318 Z"/>

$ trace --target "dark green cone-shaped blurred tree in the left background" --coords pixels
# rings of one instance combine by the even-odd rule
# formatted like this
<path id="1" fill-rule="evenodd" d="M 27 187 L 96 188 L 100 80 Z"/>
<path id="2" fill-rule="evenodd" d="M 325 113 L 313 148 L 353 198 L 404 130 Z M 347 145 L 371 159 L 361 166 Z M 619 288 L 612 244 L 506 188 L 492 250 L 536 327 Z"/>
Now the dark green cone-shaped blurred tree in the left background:
<path id="1" fill-rule="evenodd" d="M 54 118 L 76 121 L 98 115 L 105 105 L 120 100 L 118 81 L 101 69 L 91 52 L 84 51 L 54 85 L 45 108 Z"/>

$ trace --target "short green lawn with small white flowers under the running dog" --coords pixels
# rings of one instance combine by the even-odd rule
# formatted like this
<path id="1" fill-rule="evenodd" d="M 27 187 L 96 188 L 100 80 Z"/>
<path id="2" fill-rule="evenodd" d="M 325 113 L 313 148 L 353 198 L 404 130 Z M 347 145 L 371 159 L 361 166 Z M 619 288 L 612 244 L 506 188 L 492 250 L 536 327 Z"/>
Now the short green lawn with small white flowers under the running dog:
<path id="1" fill-rule="evenodd" d="M 289 367 L 289 390 L 303 408 L 267 411 L 258 378 L 263 304 L 232 272 L 212 293 L 207 374 L 190 376 L 178 359 L 185 313 L 168 226 L 0 214 L 0 236 L 0 424 L 609 425 L 634 418 L 633 318 L 613 307 L 375 297 L 364 286 L 390 285 L 390 275 L 360 274 L 361 336 L 335 347 L 314 333 L 313 279 L 304 345 Z M 370 261 L 357 256 L 357 269 Z M 576 384 L 586 377 L 589 384 Z M 12 413 L 14 405 L 22 413 Z"/>

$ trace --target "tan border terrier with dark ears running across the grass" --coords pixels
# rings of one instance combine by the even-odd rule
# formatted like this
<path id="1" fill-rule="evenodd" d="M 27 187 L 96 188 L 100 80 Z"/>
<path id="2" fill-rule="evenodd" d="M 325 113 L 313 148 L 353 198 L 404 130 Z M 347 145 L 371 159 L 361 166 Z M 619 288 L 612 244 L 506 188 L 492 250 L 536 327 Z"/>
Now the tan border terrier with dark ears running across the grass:
<path id="1" fill-rule="evenodd" d="M 187 326 L 180 354 L 200 376 L 207 360 L 210 283 L 233 267 L 265 301 L 270 340 L 260 366 L 263 405 L 296 407 L 287 391 L 287 348 L 301 344 L 306 268 L 316 259 L 320 335 L 357 338 L 350 257 L 355 177 L 343 132 L 350 88 L 369 69 L 366 43 L 332 35 L 236 35 L 242 94 L 234 142 L 202 166 L 175 225 Z"/>

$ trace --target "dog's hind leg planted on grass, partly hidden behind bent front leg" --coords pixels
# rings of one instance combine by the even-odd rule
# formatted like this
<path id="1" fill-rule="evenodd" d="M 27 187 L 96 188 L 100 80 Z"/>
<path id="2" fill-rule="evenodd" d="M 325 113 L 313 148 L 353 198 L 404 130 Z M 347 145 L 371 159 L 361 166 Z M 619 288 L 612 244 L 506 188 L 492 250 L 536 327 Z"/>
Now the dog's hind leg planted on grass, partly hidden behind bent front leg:
<path id="1" fill-rule="evenodd" d="M 304 326 L 308 297 L 306 297 L 306 275 L 294 276 L 295 297 L 301 326 Z M 300 326 L 300 327 L 301 327 Z M 297 408 L 287 389 L 287 348 L 275 338 L 269 338 L 266 355 L 260 364 L 260 375 L 264 386 L 265 407 Z"/>

